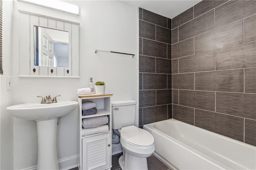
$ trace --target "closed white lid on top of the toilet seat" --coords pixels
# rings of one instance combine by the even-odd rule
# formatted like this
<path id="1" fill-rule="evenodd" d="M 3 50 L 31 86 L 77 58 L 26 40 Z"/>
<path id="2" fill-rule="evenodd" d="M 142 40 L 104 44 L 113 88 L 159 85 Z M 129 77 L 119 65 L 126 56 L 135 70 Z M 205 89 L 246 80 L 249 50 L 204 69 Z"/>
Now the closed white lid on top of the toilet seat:
<path id="1" fill-rule="evenodd" d="M 121 137 L 126 142 L 137 146 L 150 146 L 154 143 L 154 137 L 150 132 L 134 125 L 123 127 Z"/>

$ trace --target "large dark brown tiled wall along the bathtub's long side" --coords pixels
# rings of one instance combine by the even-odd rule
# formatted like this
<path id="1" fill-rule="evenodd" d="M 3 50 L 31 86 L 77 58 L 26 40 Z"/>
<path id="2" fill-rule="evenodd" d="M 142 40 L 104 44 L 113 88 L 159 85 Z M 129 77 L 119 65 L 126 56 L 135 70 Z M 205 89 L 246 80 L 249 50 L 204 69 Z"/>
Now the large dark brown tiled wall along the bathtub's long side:
<path id="1" fill-rule="evenodd" d="M 255 24 L 253 0 L 203 0 L 172 19 L 174 119 L 256 146 Z"/>

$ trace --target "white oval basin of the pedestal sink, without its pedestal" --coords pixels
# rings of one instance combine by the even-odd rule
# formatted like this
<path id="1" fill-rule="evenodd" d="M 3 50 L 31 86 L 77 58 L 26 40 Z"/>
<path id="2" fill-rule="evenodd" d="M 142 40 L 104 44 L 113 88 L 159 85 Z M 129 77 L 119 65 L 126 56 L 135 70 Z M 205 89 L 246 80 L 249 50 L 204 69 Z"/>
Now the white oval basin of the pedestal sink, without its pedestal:
<path id="1" fill-rule="evenodd" d="M 67 115 L 78 105 L 77 101 L 58 101 L 58 103 L 25 103 L 14 105 L 6 109 L 14 116 L 20 119 L 44 121 L 56 119 Z"/>

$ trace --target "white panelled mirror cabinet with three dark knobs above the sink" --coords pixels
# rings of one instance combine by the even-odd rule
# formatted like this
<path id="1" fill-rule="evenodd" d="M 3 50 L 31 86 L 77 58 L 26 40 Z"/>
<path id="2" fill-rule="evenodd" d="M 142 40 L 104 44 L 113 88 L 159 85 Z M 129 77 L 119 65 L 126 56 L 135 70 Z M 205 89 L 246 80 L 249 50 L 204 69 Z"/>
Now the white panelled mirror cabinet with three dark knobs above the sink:
<path id="1" fill-rule="evenodd" d="M 79 78 L 79 25 L 32 12 L 20 13 L 19 77 Z"/>

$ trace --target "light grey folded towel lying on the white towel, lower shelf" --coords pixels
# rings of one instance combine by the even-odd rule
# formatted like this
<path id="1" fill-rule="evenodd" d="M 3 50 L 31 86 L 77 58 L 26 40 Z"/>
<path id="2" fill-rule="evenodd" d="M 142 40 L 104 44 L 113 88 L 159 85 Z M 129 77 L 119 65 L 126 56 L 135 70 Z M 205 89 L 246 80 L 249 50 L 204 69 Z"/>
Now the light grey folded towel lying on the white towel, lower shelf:
<path id="1" fill-rule="evenodd" d="M 89 117 L 82 119 L 83 128 L 95 128 L 108 124 L 108 116 Z"/>

